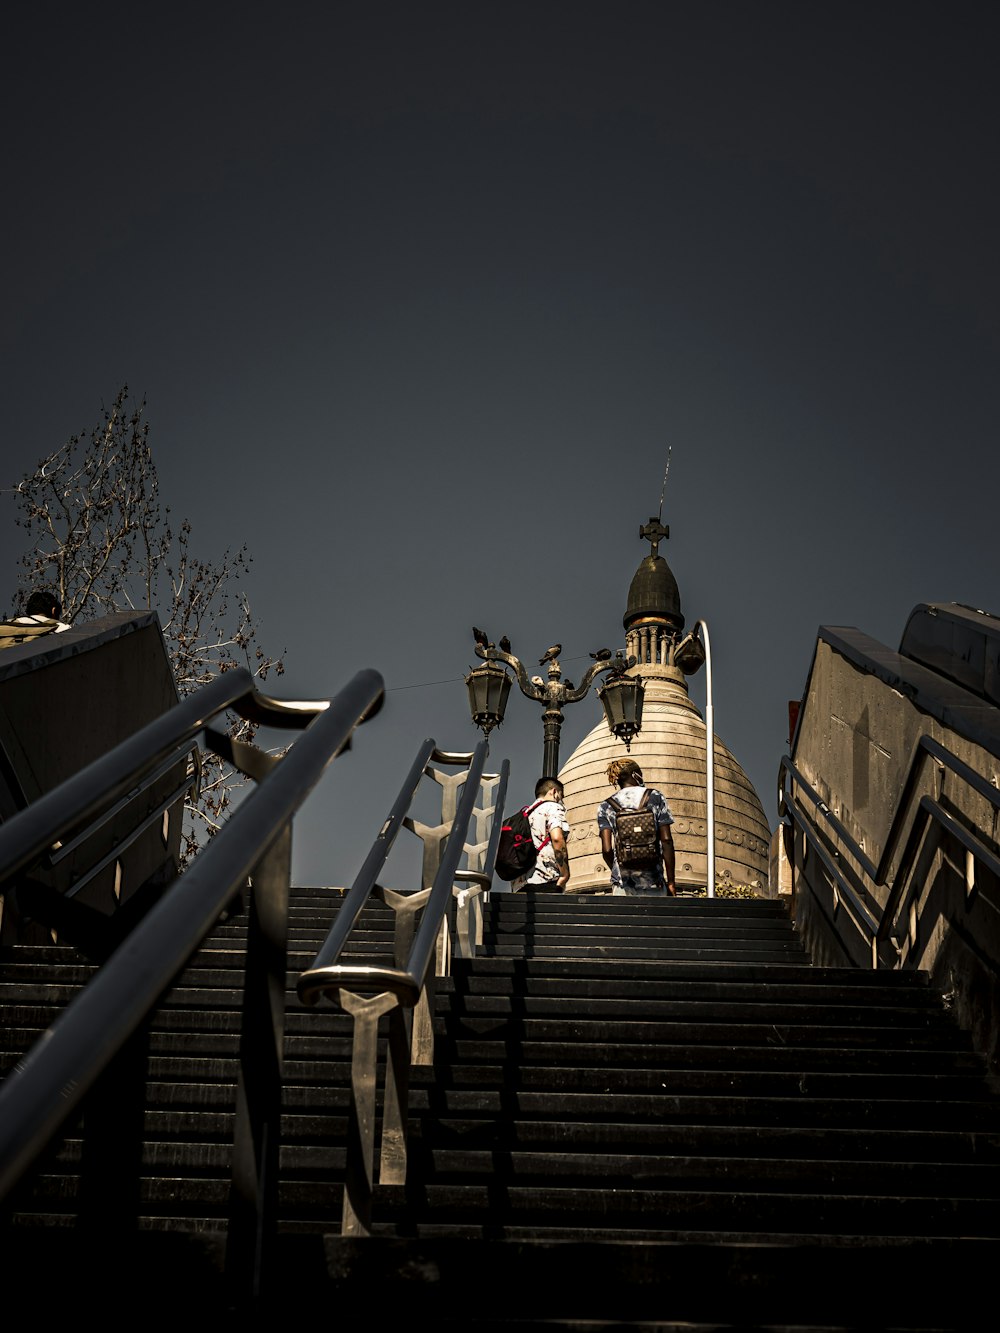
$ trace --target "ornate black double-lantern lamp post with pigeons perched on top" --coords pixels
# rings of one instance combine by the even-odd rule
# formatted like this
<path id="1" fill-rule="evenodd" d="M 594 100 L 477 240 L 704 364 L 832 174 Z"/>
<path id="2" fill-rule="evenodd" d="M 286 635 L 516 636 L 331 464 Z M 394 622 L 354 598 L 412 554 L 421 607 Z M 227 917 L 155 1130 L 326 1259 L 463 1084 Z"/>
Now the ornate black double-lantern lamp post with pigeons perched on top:
<path id="1" fill-rule="evenodd" d="M 507 640 L 501 640 L 507 644 Z M 513 669 L 515 678 L 521 693 L 527 698 L 544 705 L 541 714 L 543 752 L 541 774 L 555 777 L 559 773 L 559 734 L 563 729 L 563 709 L 567 704 L 577 704 L 584 698 L 593 681 L 603 672 L 611 672 L 609 678 L 600 686 L 597 696 L 604 705 L 604 716 L 613 736 L 625 742 L 625 749 L 632 744 L 632 737 L 639 732 L 643 721 L 643 681 L 637 676 L 629 676 L 628 668 L 635 666 L 635 657 L 625 657 L 617 652 L 615 657 L 611 652 L 600 655 L 593 666 L 579 685 L 563 682 L 563 668 L 559 665 L 561 645 L 556 644 L 545 653 L 539 665 L 548 664 L 548 680 L 540 676 L 528 678 L 524 663 L 507 648 L 496 648 L 481 632 L 476 632 L 476 656 L 484 660 L 483 666 L 476 666 L 465 677 L 469 690 L 469 709 L 472 721 L 481 726 L 484 734 L 489 734 L 493 726 L 499 726 L 504 720 L 507 696 L 511 692 L 511 677 L 500 663 L 505 663 Z"/>

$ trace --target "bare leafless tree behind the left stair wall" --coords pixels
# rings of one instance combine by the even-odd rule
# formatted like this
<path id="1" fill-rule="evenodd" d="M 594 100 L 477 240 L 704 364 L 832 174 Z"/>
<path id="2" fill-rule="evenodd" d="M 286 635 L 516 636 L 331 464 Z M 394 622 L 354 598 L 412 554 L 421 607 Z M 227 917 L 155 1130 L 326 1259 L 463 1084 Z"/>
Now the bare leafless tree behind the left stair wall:
<path id="1" fill-rule="evenodd" d="M 284 663 L 260 648 L 241 587 L 251 565 L 245 544 L 217 560 L 192 553 L 191 524 L 175 531 L 161 507 L 148 436 L 145 399 L 129 400 L 124 385 L 89 433 L 72 436 L 13 487 L 27 539 L 19 608 L 37 588 L 56 592 L 71 624 L 152 608 L 180 694 L 235 666 L 257 680 L 280 676 Z M 235 720 L 231 734 L 252 741 L 256 726 Z M 221 825 L 240 781 L 215 754 L 203 756 L 197 797 L 188 802 L 185 860 Z"/>

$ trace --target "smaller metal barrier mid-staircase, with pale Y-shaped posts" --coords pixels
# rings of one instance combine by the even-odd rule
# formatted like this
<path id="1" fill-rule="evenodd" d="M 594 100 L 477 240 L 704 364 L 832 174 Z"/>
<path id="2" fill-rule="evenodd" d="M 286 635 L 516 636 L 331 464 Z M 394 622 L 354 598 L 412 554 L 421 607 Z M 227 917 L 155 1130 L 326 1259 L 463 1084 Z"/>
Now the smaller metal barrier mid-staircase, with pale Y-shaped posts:
<path id="1" fill-rule="evenodd" d="M 448 909 L 452 902 L 456 902 L 455 952 L 473 953 L 477 940 L 481 941 L 481 897 L 492 882 L 503 822 L 496 814 L 503 813 L 509 774 L 507 760 L 499 774 L 484 774 L 485 758 L 485 741 L 472 753 L 439 750 L 435 741 L 424 741 L 329 936 L 299 978 L 297 992 L 304 1004 L 315 1005 L 325 996 L 353 1021 L 343 1236 L 371 1233 L 379 1021 L 384 1016 L 388 1018 L 379 1181 L 399 1185 L 407 1176 L 409 1070 L 413 1065 L 433 1062 L 433 984 L 435 977 L 447 976 L 451 966 Z M 463 765 L 464 770 L 447 774 L 429 766 L 432 764 Z M 421 776 L 443 788 L 441 820 L 432 826 L 407 814 Z M 483 804 L 477 805 L 480 792 Z M 476 841 L 469 844 L 473 818 Z M 400 893 L 376 882 L 403 826 L 423 842 L 421 888 L 413 893 Z M 463 856 L 469 862 L 465 868 L 459 866 Z M 392 968 L 339 962 L 372 897 L 395 912 Z"/>

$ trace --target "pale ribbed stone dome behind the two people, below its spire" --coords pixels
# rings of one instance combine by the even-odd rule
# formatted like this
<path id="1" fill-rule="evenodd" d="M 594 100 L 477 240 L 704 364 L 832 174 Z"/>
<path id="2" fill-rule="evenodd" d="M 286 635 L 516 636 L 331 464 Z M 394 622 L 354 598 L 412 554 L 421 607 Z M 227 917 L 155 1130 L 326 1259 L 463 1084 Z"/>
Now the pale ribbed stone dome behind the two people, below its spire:
<path id="1" fill-rule="evenodd" d="M 648 786 L 667 797 L 675 818 L 673 846 L 679 886 L 704 886 L 707 858 L 705 724 L 688 697 L 683 673 L 675 666 L 644 665 L 643 729 L 631 757 Z M 560 778 L 572 829 L 572 882 L 608 884 L 597 833 L 597 806 L 613 794 L 607 768 L 624 758 L 625 748 L 599 722 L 563 766 Z M 716 878 L 732 884 L 767 884 L 771 829 L 757 793 L 737 761 L 715 737 Z"/>

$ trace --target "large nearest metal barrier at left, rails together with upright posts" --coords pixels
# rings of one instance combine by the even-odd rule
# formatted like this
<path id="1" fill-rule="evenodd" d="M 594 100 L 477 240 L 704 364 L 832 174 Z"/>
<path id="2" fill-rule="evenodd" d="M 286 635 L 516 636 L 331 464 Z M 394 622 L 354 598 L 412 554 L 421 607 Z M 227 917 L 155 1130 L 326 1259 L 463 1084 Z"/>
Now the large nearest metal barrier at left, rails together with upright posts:
<path id="1" fill-rule="evenodd" d="M 96 1180 L 120 1182 L 132 1173 L 137 1181 L 140 1145 L 115 1132 L 116 1124 L 135 1122 L 136 1108 L 141 1122 L 144 1061 L 135 1058 L 136 1042 L 160 997 L 249 882 L 227 1270 L 236 1289 L 259 1290 L 277 1188 L 291 821 L 383 697 L 375 670 L 357 672 L 335 698 L 315 702 L 271 698 L 255 689 L 249 672 L 227 672 L 0 825 L 0 892 L 8 892 L 45 864 L 53 845 L 85 836 L 123 801 L 141 805 L 149 784 L 200 736 L 257 784 L 0 1088 L 0 1197 L 99 1082 L 105 1096 L 95 1117 L 100 1146 L 87 1154 L 91 1169 Z M 213 730 L 227 709 L 303 734 L 276 758 Z M 141 817 L 137 825 L 144 826 Z M 101 1192 L 96 1206 L 105 1225 L 128 1225 L 112 1216 L 113 1201 Z"/>

